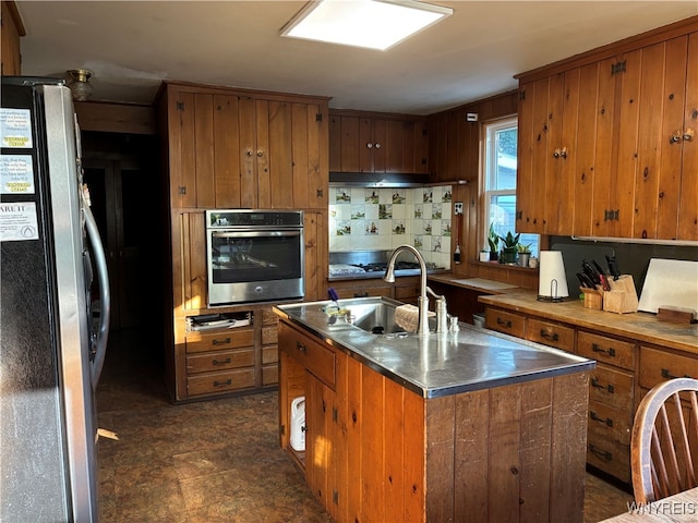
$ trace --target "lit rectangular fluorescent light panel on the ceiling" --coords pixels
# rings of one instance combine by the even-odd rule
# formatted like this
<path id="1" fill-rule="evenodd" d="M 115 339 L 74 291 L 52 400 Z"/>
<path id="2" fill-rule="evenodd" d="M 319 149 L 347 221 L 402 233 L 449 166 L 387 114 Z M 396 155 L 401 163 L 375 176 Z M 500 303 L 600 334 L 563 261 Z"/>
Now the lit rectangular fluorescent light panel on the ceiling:
<path id="1" fill-rule="evenodd" d="M 385 50 L 453 12 L 416 0 L 320 0 L 309 2 L 281 35 Z"/>

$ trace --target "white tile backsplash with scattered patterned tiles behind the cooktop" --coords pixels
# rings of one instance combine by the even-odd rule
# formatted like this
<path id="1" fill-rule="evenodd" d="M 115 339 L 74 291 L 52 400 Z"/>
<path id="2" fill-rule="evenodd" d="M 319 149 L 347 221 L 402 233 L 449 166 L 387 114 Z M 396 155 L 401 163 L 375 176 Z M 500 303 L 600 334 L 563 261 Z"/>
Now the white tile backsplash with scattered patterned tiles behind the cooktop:
<path id="1" fill-rule="evenodd" d="M 450 268 L 453 187 L 329 187 L 329 251 L 417 247 Z"/>

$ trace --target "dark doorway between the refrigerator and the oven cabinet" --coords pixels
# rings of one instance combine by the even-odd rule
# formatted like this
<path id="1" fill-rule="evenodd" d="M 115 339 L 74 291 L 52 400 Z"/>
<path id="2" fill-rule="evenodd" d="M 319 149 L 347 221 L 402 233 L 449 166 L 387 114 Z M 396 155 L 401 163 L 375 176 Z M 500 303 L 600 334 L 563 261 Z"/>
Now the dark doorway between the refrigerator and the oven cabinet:
<path id="1" fill-rule="evenodd" d="M 84 181 L 107 256 L 111 330 L 159 327 L 160 196 L 153 136 L 82 133 Z"/>

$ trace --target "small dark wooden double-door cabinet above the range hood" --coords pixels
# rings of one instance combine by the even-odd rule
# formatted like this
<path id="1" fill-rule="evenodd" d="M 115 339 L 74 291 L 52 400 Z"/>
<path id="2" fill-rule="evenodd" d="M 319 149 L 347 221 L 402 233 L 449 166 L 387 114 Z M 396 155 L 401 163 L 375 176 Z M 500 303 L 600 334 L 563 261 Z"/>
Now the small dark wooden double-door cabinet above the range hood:
<path id="1" fill-rule="evenodd" d="M 329 119 L 330 171 L 426 173 L 428 136 L 423 118 L 333 111 Z"/>

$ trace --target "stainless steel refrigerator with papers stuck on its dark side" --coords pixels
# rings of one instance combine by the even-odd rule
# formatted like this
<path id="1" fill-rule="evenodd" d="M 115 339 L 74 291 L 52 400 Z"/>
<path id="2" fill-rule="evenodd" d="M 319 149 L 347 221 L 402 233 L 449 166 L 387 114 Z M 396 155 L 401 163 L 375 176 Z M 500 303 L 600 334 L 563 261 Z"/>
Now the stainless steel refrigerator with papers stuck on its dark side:
<path id="1" fill-rule="evenodd" d="M 109 283 L 80 130 L 60 80 L 4 76 L 1 97 L 0 522 L 97 521 Z"/>

